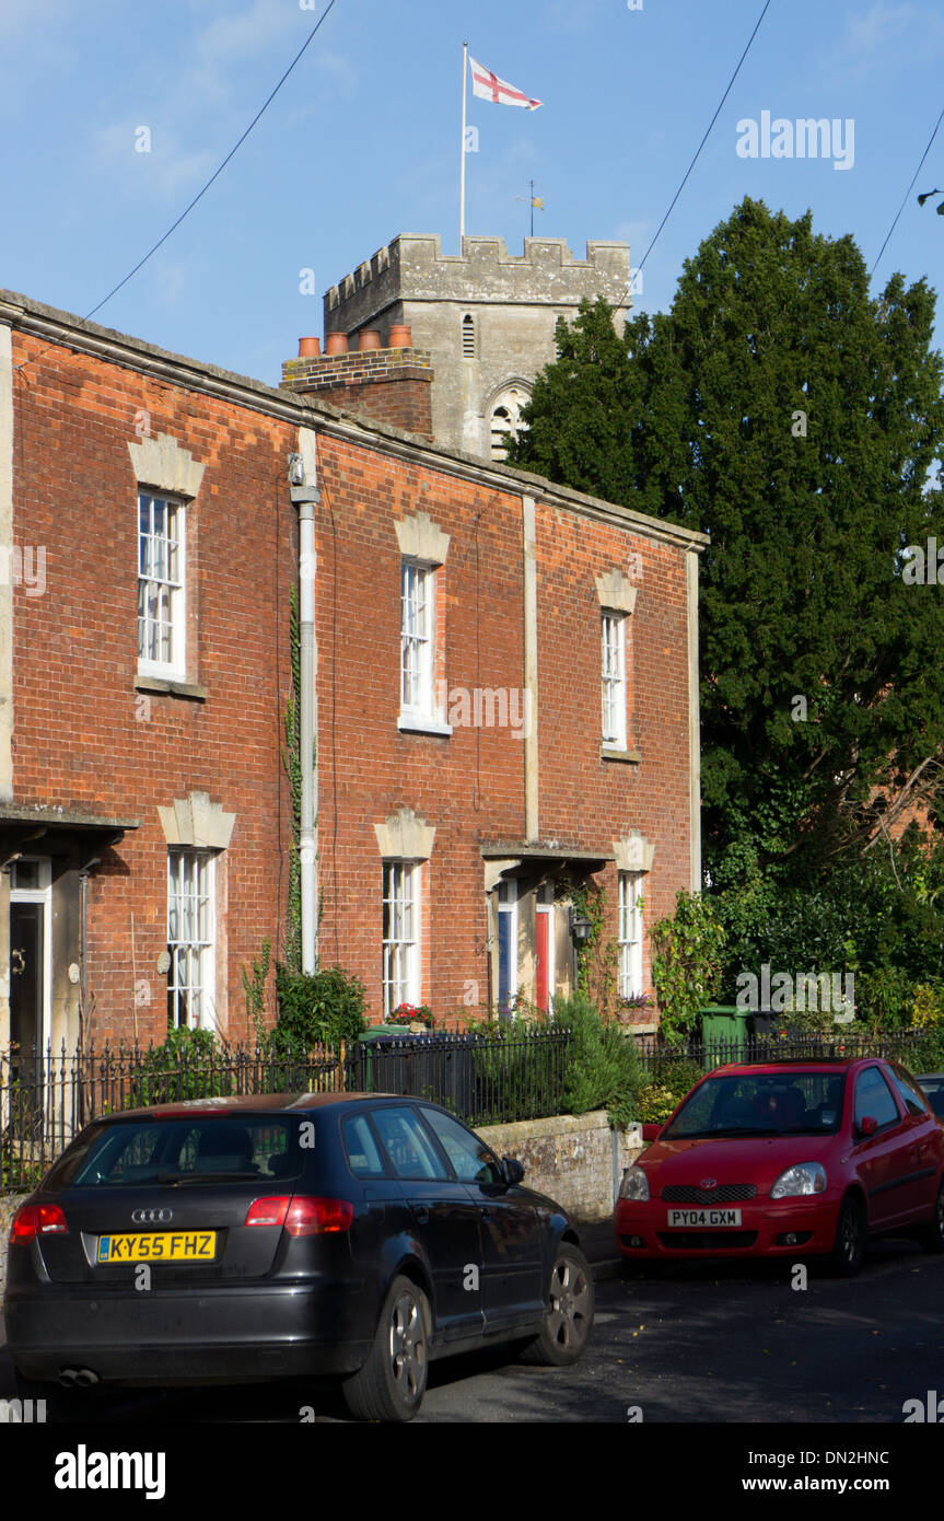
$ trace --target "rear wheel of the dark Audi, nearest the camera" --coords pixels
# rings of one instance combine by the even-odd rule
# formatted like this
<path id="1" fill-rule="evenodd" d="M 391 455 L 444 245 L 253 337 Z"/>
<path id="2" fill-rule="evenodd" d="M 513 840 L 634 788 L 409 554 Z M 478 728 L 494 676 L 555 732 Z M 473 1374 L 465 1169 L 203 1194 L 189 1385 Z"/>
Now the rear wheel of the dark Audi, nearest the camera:
<path id="1" fill-rule="evenodd" d="M 363 1367 L 344 1384 L 357 1421 L 412 1421 L 426 1393 L 432 1314 L 427 1296 L 398 1275 L 380 1311 Z"/>

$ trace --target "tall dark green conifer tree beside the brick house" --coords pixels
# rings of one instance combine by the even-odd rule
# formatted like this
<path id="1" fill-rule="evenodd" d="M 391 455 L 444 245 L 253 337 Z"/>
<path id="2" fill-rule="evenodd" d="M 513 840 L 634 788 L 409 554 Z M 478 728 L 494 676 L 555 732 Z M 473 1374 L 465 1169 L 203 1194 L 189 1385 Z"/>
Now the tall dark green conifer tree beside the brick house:
<path id="1" fill-rule="evenodd" d="M 558 325 L 512 464 L 710 534 L 705 864 L 798 879 L 944 800 L 942 360 L 935 292 L 871 295 L 851 237 L 745 199 L 667 313 Z M 912 555 L 904 551 L 912 548 Z M 903 573 L 904 572 L 904 573 Z M 637 611 L 658 586 L 643 583 Z"/>

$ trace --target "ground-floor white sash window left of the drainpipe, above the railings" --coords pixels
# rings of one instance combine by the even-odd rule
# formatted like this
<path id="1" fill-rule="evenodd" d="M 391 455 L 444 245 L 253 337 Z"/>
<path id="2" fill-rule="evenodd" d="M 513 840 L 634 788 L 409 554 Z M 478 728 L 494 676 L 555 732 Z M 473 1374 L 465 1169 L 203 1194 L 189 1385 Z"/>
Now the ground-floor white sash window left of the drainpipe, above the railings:
<path id="1" fill-rule="evenodd" d="M 196 923 L 193 922 L 193 907 L 190 922 L 184 916 L 182 922 L 175 923 L 175 907 L 179 916 L 179 905 L 185 905 L 187 893 L 196 902 Z M 170 955 L 167 969 L 170 1025 L 175 1030 L 184 1025 L 190 1030 L 214 1030 L 216 858 L 208 850 L 172 846 L 167 852 L 167 952 Z M 182 978 L 178 975 L 181 966 L 184 969 Z M 184 1019 L 181 1019 L 181 1010 L 185 1015 Z"/>

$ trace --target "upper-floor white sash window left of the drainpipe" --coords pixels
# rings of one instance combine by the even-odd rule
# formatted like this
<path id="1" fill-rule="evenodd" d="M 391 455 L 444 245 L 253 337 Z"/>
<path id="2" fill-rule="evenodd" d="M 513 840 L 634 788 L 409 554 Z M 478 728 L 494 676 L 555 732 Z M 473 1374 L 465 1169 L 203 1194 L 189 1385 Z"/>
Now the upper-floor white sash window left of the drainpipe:
<path id="1" fill-rule="evenodd" d="M 167 532 L 154 532 L 155 503 L 166 511 Z M 147 531 L 141 531 L 141 511 L 147 511 Z M 172 532 L 173 525 L 173 532 Z M 187 675 L 187 508 L 175 496 L 163 491 L 138 490 L 138 672 L 140 675 L 173 677 Z M 172 557 L 176 555 L 176 575 Z M 164 619 L 154 619 L 144 611 L 146 590 L 154 589 L 158 605 L 166 608 Z M 163 622 L 169 630 L 170 651 L 167 659 L 147 654 L 146 631 Z"/>

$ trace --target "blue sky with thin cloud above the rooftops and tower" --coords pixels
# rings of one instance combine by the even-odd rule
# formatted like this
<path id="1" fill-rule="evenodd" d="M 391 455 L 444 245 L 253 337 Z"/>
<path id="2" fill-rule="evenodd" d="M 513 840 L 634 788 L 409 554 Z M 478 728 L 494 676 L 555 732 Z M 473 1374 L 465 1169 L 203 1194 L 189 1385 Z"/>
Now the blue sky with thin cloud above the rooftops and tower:
<path id="1" fill-rule="evenodd" d="M 309 5 L 309 0 L 304 0 Z M 0 286 L 85 315 L 167 230 L 307 37 L 303 0 L 0 0 Z M 762 0 L 336 0 L 190 218 L 99 313 L 108 327 L 277 382 L 321 295 L 400 231 L 458 251 L 462 41 L 540 111 L 474 100 L 468 231 L 626 239 L 638 265 Z M 643 272 L 683 260 L 745 195 L 851 233 L 871 268 L 944 105 L 944 9 L 774 0 Z M 742 158 L 737 123 L 851 119 L 854 161 Z M 150 132 L 150 152 L 135 152 Z M 845 132 L 845 128 L 844 128 Z M 743 134 L 742 134 L 743 135 Z M 848 152 L 847 152 L 848 158 Z M 944 283 L 944 125 L 877 271 Z M 521 201 L 515 201 L 521 196 Z M 941 198 L 944 199 L 944 196 Z M 315 271 L 316 295 L 299 272 Z M 944 316 L 942 316 L 944 319 Z M 938 333 L 942 329 L 938 327 Z"/>

